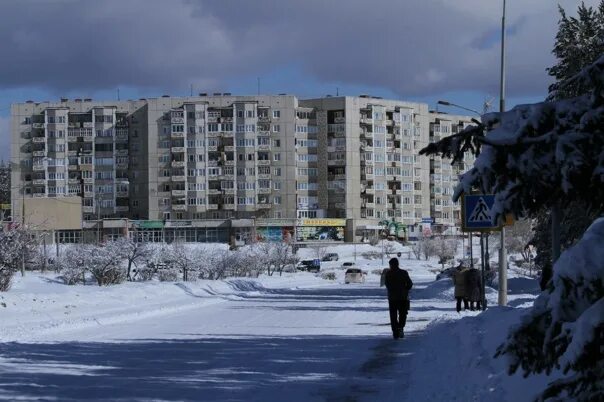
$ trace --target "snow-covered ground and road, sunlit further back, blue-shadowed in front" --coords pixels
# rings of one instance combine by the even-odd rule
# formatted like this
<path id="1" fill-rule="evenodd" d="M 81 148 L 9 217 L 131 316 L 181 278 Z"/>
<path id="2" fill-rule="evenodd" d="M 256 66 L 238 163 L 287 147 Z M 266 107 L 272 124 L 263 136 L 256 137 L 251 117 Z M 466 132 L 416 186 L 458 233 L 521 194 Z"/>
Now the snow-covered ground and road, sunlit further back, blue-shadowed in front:
<path id="1" fill-rule="evenodd" d="M 451 281 L 434 281 L 436 261 L 405 254 L 415 286 L 406 337 L 395 341 L 373 273 L 381 260 L 360 256 L 370 248 L 356 247 L 364 284 L 344 284 L 339 268 L 353 246 L 323 263 L 335 281 L 301 272 L 100 288 L 16 277 L 0 293 L 0 399 L 531 399 L 542 379 L 508 377 L 492 357 L 536 281 L 510 279 L 511 308 L 458 314 Z M 488 299 L 496 304 L 495 290 Z"/>

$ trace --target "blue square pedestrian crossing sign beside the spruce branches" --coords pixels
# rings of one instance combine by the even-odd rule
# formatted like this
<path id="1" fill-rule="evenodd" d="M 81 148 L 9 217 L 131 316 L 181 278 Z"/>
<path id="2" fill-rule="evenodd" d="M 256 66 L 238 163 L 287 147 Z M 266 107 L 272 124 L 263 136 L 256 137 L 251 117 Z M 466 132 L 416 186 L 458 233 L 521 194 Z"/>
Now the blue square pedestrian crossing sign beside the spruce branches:
<path id="1" fill-rule="evenodd" d="M 482 232 L 501 230 L 498 222 L 493 222 L 493 194 L 463 195 L 461 198 L 462 231 Z"/>

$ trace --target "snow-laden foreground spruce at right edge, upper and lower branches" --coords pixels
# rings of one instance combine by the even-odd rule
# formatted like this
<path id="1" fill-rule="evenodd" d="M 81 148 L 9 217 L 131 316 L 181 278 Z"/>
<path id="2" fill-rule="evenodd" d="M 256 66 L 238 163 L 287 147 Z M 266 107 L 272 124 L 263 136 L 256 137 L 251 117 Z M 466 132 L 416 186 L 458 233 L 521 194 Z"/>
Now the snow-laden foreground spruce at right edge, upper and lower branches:
<path id="1" fill-rule="evenodd" d="M 567 84 L 592 90 L 487 114 L 482 123 L 420 151 L 453 163 L 464 152 L 477 155 L 474 166 L 460 176 L 453 200 L 473 189 L 493 193 L 496 219 L 506 213 L 531 217 L 543 207 L 576 200 L 602 208 L 604 55 Z M 511 359 L 511 372 L 519 367 L 525 375 L 557 367 L 565 371 L 566 377 L 544 390 L 543 399 L 604 397 L 604 368 L 593 341 L 601 342 L 604 325 L 603 225 L 597 220 L 581 245 L 565 252 L 531 313 L 498 349 L 497 355 Z"/>

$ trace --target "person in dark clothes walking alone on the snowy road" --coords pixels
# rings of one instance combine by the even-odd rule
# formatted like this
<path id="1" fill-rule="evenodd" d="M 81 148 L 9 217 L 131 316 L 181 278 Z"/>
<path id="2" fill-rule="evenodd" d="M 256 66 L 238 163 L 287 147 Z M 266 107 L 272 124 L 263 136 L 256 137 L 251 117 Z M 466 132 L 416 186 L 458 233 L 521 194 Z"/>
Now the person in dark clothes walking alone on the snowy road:
<path id="1" fill-rule="evenodd" d="M 409 273 L 398 266 L 398 259 L 388 261 L 390 269 L 386 273 L 386 289 L 388 289 L 388 309 L 390 310 L 390 327 L 394 339 L 404 337 L 404 328 L 409 312 L 409 290 L 413 282 Z"/>

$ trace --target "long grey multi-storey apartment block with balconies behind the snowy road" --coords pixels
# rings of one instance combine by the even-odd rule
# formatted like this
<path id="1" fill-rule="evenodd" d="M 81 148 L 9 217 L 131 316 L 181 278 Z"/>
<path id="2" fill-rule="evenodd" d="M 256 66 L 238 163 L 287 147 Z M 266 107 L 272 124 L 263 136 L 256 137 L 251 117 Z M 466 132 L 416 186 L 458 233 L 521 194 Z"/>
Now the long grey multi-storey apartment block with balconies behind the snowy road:
<path id="1" fill-rule="evenodd" d="M 55 211 L 57 199 L 79 197 L 82 228 L 105 237 L 122 234 L 129 218 L 154 240 L 228 241 L 259 233 L 360 240 L 383 221 L 418 236 L 431 217 L 442 228 L 457 216 L 443 205 L 449 187 L 428 186 L 444 182 L 434 167 L 443 161 L 418 151 L 437 126 L 452 132 L 464 118 L 430 114 L 422 103 L 62 99 L 15 104 L 11 118 L 12 180 L 22 189 L 12 195 L 16 219 L 28 199 L 53 199 Z M 85 232 L 50 229 L 63 241 Z"/>

